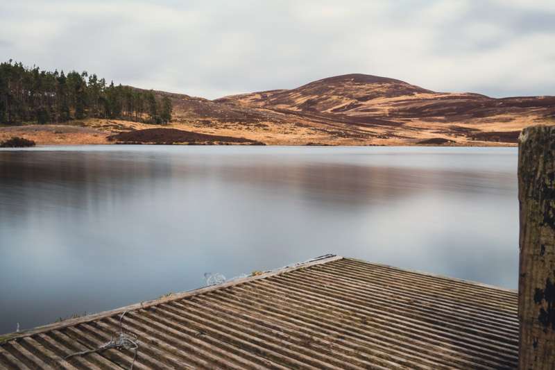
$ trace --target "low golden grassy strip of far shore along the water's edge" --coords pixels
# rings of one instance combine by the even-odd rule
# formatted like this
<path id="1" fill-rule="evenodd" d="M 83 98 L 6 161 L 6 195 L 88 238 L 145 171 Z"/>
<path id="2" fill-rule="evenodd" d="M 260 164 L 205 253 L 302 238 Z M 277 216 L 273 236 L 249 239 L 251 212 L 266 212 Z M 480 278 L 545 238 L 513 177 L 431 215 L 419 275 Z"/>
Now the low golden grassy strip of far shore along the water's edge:
<path id="1" fill-rule="evenodd" d="M 266 146 L 455 146 L 455 147 L 515 147 L 520 130 L 483 131 L 484 137 L 495 133 L 511 134 L 511 142 L 475 140 L 464 133 L 459 135 L 434 136 L 415 133 L 413 137 L 391 133 L 380 137 L 338 137 L 308 131 L 287 132 L 275 128 L 259 132 L 244 126 L 241 128 L 219 128 L 198 126 L 186 122 L 167 125 L 144 124 L 135 121 L 113 119 L 85 119 L 61 124 L 0 125 L 0 141 L 11 137 L 33 140 L 37 145 L 98 145 L 98 144 L 142 144 L 142 145 L 266 145 Z M 148 132 L 157 135 L 144 135 Z M 170 135 L 171 134 L 171 135 Z M 500 135 L 503 137 L 503 135 Z M 507 135 L 506 135 L 507 136 Z M 506 137 L 505 136 L 505 137 Z M 119 139 L 121 137 L 121 140 Z M 497 136 L 493 136 L 496 138 Z M 116 139 L 114 139 L 116 138 Z"/>

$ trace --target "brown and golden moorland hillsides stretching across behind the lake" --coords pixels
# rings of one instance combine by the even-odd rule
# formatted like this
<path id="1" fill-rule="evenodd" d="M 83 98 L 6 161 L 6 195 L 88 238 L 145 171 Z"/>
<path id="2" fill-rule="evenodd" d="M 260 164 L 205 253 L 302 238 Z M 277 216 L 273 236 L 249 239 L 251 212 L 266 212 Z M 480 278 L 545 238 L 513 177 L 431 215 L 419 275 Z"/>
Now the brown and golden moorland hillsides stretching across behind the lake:
<path id="1" fill-rule="evenodd" d="M 154 93 L 173 103 L 173 120 L 164 127 L 270 145 L 507 146 L 515 145 L 526 126 L 555 124 L 555 96 L 494 99 L 433 92 L 365 74 L 214 101 Z M 110 119 L 73 121 L 74 128 L 48 126 L 0 128 L 0 140 L 19 135 L 38 144 L 100 144 L 110 135 L 159 127 Z"/>

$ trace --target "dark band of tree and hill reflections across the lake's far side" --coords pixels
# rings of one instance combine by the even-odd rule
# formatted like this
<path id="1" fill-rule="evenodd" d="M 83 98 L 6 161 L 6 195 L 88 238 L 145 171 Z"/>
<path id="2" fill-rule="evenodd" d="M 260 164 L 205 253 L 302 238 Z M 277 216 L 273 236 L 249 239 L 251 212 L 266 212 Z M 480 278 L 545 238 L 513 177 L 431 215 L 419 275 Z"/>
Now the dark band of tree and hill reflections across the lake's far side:
<path id="1" fill-rule="evenodd" d="M 82 207 L 101 199 L 148 196 L 187 183 L 239 185 L 287 192 L 306 200 L 345 203 L 400 201 L 419 192 L 514 192 L 513 174 L 383 165 L 318 163 L 264 155 L 251 160 L 215 154 L 123 152 L 3 152 L 0 154 L 4 210 L 22 203 Z M 289 159 L 289 160 L 287 160 Z M 295 160 L 296 159 L 296 160 Z M 206 196 L 210 196 L 207 192 Z M 140 199 L 140 198 L 139 198 Z M 137 199 L 137 201 L 139 201 Z M 17 200 L 17 201 L 16 201 Z M 12 205 L 12 207 L 10 207 Z"/>

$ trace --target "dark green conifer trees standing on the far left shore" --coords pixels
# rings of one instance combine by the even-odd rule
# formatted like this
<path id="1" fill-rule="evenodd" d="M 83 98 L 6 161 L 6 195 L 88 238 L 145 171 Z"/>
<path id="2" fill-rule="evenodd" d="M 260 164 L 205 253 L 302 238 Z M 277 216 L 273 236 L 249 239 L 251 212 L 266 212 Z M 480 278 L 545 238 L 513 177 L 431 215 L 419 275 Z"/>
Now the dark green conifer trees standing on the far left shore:
<path id="1" fill-rule="evenodd" d="M 171 100 L 154 92 L 106 84 L 87 72 L 44 71 L 21 62 L 0 64 L 0 123 L 49 124 L 71 119 L 110 118 L 167 124 Z"/>

